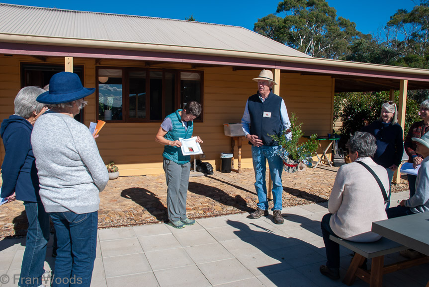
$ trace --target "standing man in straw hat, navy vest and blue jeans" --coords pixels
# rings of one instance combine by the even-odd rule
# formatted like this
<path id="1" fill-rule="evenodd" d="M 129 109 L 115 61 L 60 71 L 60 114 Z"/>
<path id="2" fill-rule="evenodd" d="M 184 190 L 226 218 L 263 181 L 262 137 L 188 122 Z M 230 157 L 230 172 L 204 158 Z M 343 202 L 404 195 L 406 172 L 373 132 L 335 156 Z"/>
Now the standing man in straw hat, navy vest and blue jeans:
<path id="1" fill-rule="evenodd" d="M 268 160 L 269 172 L 272 179 L 272 194 L 274 199 L 274 223 L 282 224 L 282 193 L 281 173 L 283 161 L 277 154 L 279 146 L 272 141 L 269 135 L 280 136 L 283 129 L 290 126 L 286 105 L 281 97 L 275 95 L 271 89 L 277 83 L 273 80 L 272 72 L 262 70 L 259 76 L 253 79 L 257 82 L 257 93 L 249 97 L 246 102 L 242 118 L 243 131 L 249 144 L 252 144 L 253 167 L 255 169 L 255 188 L 257 191 L 257 211 L 248 217 L 259 218 L 268 215 L 268 201 L 266 198 L 265 165 Z"/>

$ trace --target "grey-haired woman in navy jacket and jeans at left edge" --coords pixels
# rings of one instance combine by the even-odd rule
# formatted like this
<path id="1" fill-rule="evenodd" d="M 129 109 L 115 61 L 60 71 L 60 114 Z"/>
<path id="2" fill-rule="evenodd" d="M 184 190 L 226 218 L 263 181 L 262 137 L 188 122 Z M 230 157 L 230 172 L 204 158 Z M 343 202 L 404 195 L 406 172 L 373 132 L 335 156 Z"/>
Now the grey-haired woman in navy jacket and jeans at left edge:
<path id="1" fill-rule="evenodd" d="M 27 239 L 21 265 L 18 286 L 37 287 L 42 285 L 46 245 L 49 240 L 49 215 L 45 212 L 39 197 L 39 179 L 30 143 L 33 124 L 46 111 L 45 104 L 36 98 L 44 90 L 25 87 L 15 97 L 15 114 L 3 120 L 0 136 L 5 154 L 1 165 L 1 197 L 8 202 L 24 202 L 28 218 Z"/>

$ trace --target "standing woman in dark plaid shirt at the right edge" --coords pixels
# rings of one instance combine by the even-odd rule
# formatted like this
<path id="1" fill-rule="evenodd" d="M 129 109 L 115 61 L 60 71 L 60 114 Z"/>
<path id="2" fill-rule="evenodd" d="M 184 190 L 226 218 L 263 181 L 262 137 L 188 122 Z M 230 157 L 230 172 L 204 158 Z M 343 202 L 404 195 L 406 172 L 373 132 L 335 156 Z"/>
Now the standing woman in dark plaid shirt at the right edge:
<path id="1" fill-rule="evenodd" d="M 425 100 L 420 105 L 420 117 L 423 121 L 415 122 L 411 125 L 408 134 L 405 137 L 404 147 L 408 154 L 408 162 L 413 163 L 414 168 L 420 165 L 423 161 L 423 156 L 416 152 L 417 144 L 412 141 L 412 138 L 420 139 L 429 132 L 429 100 Z M 410 187 L 410 198 L 416 193 L 417 175 L 407 174 L 408 185 Z"/>

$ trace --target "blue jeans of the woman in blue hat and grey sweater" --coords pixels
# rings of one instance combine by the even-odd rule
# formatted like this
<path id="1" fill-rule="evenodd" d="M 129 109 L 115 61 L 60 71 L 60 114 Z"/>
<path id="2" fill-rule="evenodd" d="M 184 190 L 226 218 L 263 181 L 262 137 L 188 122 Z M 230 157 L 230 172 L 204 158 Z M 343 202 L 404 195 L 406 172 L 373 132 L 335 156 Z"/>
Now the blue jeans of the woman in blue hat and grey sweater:
<path id="1" fill-rule="evenodd" d="M 53 287 L 89 287 L 97 247 L 98 212 L 50 213 L 57 232 Z"/>

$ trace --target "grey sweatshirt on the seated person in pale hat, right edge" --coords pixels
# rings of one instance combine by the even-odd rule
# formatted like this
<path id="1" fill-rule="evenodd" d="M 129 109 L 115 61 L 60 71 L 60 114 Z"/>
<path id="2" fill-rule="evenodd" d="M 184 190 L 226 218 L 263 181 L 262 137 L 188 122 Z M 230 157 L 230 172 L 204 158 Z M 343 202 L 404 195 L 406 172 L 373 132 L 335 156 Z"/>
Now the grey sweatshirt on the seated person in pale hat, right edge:
<path id="1" fill-rule="evenodd" d="M 416 180 L 416 193 L 405 202 L 413 213 L 429 212 L 429 156 L 422 161 Z"/>

